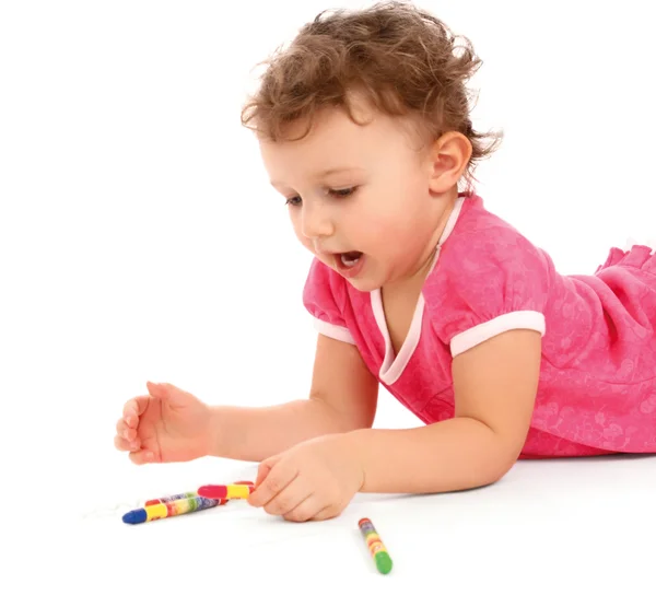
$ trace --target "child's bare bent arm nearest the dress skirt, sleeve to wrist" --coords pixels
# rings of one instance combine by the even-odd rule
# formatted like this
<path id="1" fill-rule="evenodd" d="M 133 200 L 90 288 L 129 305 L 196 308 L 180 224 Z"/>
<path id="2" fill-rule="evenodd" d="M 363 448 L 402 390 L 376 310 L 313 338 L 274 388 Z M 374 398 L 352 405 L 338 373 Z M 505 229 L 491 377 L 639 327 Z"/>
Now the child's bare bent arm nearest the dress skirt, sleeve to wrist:
<path id="1" fill-rule="evenodd" d="M 434 493 L 499 480 L 524 446 L 540 360 L 538 332 L 507 331 L 454 359 L 454 419 L 351 433 L 364 471 L 362 491 Z"/>

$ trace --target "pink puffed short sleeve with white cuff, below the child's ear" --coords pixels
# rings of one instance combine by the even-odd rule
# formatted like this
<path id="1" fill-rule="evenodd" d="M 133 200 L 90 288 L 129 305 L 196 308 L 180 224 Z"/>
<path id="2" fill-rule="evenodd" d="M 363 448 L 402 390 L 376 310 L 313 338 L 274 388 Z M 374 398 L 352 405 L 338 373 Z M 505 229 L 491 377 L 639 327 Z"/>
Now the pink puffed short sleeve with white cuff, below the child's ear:
<path id="1" fill-rule="evenodd" d="M 552 271 L 547 254 L 511 227 L 447 238 L 422 291 L 433 330 L 453 357 L 512 329 L 544 336 Z"/>

